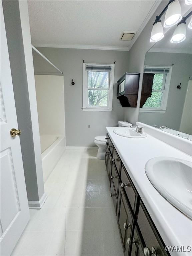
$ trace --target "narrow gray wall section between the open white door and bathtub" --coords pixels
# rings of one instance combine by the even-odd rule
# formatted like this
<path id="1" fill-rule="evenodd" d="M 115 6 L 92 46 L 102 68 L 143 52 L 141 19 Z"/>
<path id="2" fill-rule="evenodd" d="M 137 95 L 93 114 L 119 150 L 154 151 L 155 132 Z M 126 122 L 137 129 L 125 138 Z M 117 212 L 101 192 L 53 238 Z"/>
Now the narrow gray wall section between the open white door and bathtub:
<path id="1" fill-rule="evenodd" d="M 31 109 L 29 103 L 28 81 L 22 39 L 19 2 L 2 1 L 5 19 L 5 29 L 11 66 L 13 91 L 20 136 L 25 183 L 28 201 L 39 201 L 44 192 L 42 185 L 39 191 L 38 177 L 35 162 Z M 15 127 L 17 128 L 17 127 Z"/>

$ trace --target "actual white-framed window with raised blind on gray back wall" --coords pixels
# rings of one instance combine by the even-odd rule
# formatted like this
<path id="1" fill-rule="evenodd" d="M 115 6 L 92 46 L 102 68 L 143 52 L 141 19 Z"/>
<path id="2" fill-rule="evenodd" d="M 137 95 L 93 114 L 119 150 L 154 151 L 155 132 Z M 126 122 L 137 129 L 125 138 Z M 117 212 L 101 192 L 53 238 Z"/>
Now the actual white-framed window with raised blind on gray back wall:
<path id="1" fill-rule="evenodd" d="M 114 66 L 83 63 L 83 110 L 112 110 Z"/>

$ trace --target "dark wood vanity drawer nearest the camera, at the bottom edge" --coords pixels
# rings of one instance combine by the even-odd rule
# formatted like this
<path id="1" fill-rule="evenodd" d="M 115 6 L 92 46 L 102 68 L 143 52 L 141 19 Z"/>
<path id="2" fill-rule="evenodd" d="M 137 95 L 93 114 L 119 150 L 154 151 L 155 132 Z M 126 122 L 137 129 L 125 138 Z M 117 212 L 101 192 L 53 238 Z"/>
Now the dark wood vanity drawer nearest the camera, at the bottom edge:
<path id="1" fill-rule="evenodd" d="M 140 202 L 137 222 L 145 242 L 145 247 L 149 248 L 151 251 L 152 247 L 154 247 L 157 256 L 168 255 L 164 249 L 160 235 L 142 202 Z"/>

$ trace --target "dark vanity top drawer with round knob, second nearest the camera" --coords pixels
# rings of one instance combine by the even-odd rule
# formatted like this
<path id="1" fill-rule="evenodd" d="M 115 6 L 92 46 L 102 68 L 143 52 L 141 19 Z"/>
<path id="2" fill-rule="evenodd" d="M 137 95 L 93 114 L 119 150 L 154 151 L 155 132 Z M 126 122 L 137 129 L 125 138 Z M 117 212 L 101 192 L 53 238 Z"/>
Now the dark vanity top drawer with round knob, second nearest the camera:
<path id="1" fill-rule="evenodd" d="M 124 165 L 122 165 L 121 167 L 121 187 L 123 187 L 123 189 L 125 190 L 133 212 L 136 213 L 135 211 L 138 195 L 136 189 L 131 182 L 131 179 L 127 174 L 127 171 L 125 170 Z"/>

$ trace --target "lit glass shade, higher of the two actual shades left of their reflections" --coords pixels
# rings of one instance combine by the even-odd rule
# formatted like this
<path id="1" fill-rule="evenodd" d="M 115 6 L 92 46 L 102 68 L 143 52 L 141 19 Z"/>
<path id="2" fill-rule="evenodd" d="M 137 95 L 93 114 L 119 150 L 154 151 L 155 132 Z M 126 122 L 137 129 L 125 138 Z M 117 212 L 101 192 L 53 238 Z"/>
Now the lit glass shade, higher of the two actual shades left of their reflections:
<path id="1" fill-rule="evenodd" d="M 182 19 L 181 6 L 178 0 L 173 1 L 167 8 L 165 14 L 164 27 L 169 28 L 177 24 Z"/>

